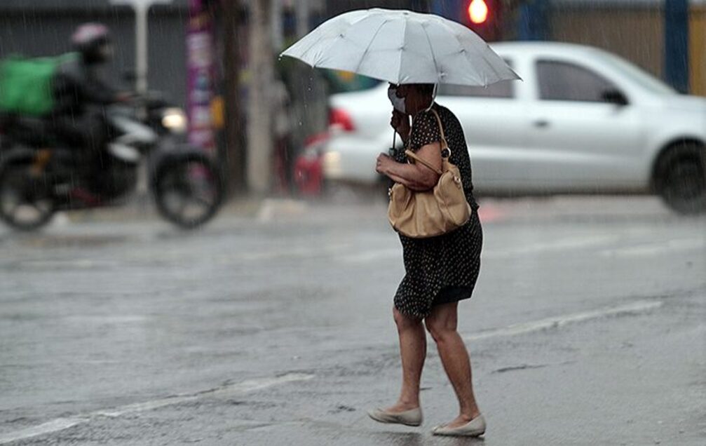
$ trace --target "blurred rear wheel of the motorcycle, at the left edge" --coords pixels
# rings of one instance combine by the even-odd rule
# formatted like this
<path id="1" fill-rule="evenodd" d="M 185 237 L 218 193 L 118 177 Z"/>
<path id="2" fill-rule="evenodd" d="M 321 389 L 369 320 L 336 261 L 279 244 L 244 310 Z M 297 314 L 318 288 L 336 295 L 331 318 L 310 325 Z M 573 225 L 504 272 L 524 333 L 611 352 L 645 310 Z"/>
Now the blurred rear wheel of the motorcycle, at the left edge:
<path id="1" fill-rule="evenodd" d="M 34 231 L 54 216 L 56 203 L 46 176 L 33 171 L 31 161 L 0 168 L 0 219 L 20 231 Z"/>

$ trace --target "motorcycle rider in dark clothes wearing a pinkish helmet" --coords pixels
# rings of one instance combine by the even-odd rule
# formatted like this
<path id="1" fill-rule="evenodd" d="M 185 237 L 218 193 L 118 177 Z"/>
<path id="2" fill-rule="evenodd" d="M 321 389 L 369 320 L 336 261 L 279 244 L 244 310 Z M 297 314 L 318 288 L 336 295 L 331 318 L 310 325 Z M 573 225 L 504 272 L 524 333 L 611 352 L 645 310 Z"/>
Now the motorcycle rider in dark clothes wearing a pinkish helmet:
<path id="1" fill-rule="evenodd" d="M 54 110 L 52 130 L 61 140 L 78 151 L 80 174 L 97 181 L 102 168 L 102 152 L 107 144 L 104 107 L 124 102 L 130 95 L 105 83 L 100 68 L 113 58 L 113 46 L 107 26 L 85 23 L 71 36 L 78 57 L 61 64 L 53 81 Z"/>

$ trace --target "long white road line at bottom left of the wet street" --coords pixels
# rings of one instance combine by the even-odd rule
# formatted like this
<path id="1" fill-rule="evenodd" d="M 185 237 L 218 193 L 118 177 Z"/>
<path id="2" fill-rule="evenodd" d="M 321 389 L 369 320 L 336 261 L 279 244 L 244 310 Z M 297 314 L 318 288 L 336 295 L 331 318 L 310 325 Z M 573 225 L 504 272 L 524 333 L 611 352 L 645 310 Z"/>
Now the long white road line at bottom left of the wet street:
<path id="1" fill-rule="evenodd" d="M 233 394 L 255 392 L 256 390 L 263 390 L 268 387 L 273 387 L 275 385 L 281 385 L 287 382 L 306 381 L 311 380 L 311 378 L 314 378 L 314 375 L 308 375 L 304 373 L 289 373 L 288 375 L 282 375 L 273 378 L 261 378 L 237 382 L 235 384 L 225 385 L 224 387 L 218 387 L 217 389 L 206 390 L 204 392 L 197 392 L 195 394 L 177 395 L 174 397 L 155 399 L 153 401 L 143 403 L 126 404 L 124 406 L 119 406 L 114 409 L 93 411 L 88 414 L 71 416 L 68 418 L 56 418 L 52 421 L 47 421 L 47 423 L 42 423 L 38 426 L 32 426 L 31 428 L 16 430 L 15 432 L 0 435 L 0 445 L 6 445 L 14 441 L 25 440 L 26 438 L 37 437 L 38 435 L 44 435 L 47 433 L 59 432 L 60 430 L 66 430 L 78 424 L 89 423 L 95 418 L 105 416 L 114 418 L 116 416 L 150 411 L 152 409 L 159 409 L 160 407 L 164 406 L 172 406 L 174 404 L 191 402 L 203 398 L 227 397 Z"/>

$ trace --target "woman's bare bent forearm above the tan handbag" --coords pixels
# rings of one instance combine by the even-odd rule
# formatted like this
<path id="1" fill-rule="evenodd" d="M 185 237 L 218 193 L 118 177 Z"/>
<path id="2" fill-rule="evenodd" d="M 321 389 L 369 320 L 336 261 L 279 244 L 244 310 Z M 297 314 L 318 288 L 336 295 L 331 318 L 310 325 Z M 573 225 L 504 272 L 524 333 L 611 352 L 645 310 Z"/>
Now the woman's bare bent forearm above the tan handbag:
<path id="1" fill-rule="evenodd" d="M 441 170 L 441 144 L 431 143 L 424 145 L 417 151 L 417 156 L 429 162 L 436 169 Z M 388 155 L 378 157 L 378 173 L 388 176 L 396 183 L 402 183 L 412 191 L 428 191 L 436 186 L 439 176 L 423 164 L 407 164 L 396 162 Z"/>

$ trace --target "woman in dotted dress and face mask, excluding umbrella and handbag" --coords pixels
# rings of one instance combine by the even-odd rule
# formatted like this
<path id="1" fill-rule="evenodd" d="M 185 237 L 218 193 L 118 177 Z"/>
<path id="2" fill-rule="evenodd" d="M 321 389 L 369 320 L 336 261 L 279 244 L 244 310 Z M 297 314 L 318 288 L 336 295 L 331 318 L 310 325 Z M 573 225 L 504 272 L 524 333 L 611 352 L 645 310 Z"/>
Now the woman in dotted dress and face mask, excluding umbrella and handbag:
<path id="1" fill-rule="evenodd" d="M 460 405 L 458 416 L 433 428 L 433 434 L 474 437 L 485 433 L 486 423 L 473 394 L 469 355 L 456 329 L 458 302 L 471 297 L 478 278 L 483 233 L 462 127 L 450 110 L 434 102 L 433 93 L 433 84 L 390 83 L 388 95 L 394 107 L 390 124 L 405 147 L 436 171 L 442 166 L 441 138 L 445 135 L 450 149 L 450 155 L 445 155 L 460 169 L 472 212 L 464 226 L 448 234 L 428 239 L 400 234 L 406 275 L 395 294 L 393 315 L 400 337 L 402 390 L 393 406 L 369 411 L 369 416 L 381 423 L 421 424 L 419 384 L 426 358 L 426 327 Z M 439 178 L 429 167 L 409 164 L 404 150 L 397 151 L 394 158 L 380 155 L 376 170 L 412 191 L 429 190 Z"/>

